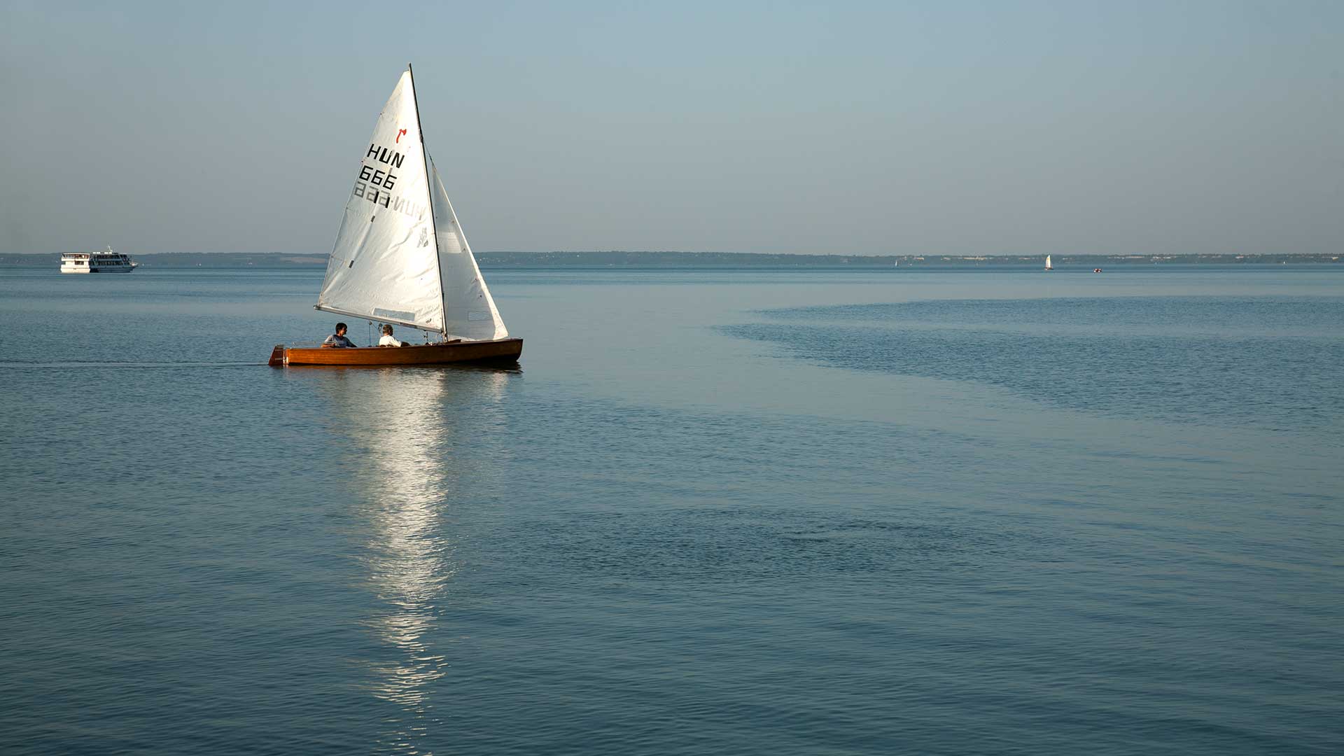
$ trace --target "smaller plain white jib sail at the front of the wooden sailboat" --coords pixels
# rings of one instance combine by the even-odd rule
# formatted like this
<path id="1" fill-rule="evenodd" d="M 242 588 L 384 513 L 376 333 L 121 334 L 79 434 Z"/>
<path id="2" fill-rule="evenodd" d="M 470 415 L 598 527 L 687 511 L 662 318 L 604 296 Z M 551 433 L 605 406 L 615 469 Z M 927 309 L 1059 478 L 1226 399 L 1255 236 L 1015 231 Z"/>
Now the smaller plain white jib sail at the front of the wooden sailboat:
<path id="1" fill-rule="evenodd" d="M 430 157 L 430 196 L 438 229 L 438 268 L 444 287 L 444 332 L 460 339 L 507 339 L 508 328 L 485 287 L 472 248 L 444 191 L 438 167 Z"/>

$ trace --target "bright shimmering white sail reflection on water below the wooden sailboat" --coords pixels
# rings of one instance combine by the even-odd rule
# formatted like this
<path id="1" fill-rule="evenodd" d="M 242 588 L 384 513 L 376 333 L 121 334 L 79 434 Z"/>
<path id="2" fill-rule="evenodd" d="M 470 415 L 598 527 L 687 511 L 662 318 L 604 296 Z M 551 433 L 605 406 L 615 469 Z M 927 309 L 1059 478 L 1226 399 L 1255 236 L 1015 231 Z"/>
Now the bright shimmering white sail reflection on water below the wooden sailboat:
<path id="1" fill-rule="evenodd" d="M 370 690 L 405 717 L 386 720 L 380 745 L 425 753 L 442 718 L 435 683 L 452 662 L 435 632 L 452 597 L 458 535 L 454 506 L 469 486 L 499 480 L 501 453 L 482 443 L 499 422 L 500 398 L 517 370 L 324 370 L 312 377 L 333 408 L 332 430 L 352 443 L 352 500 L 364 521 L 360 561 L 378 611 L 366 626 L 391 654 L 370 663 Z M 302 378 L 306 379 L 306 378 Z"/>

